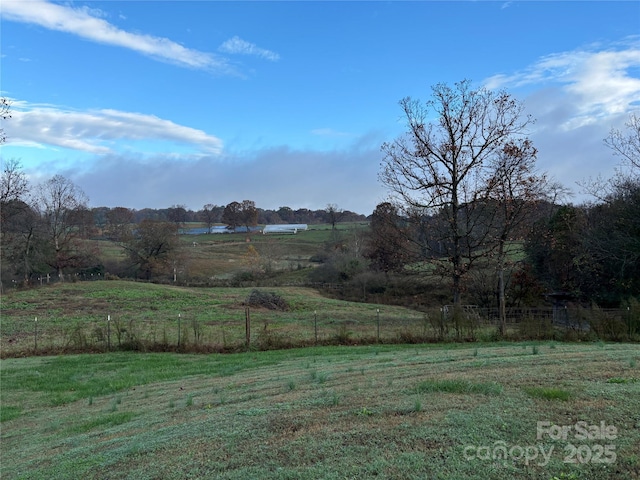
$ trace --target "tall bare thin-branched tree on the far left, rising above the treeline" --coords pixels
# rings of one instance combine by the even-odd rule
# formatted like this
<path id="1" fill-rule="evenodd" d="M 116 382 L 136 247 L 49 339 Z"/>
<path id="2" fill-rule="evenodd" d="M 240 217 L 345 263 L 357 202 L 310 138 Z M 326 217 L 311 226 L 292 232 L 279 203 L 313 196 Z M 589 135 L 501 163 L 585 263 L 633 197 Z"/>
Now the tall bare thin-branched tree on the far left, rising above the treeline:
<path id="1" fill-rule="evenodd" d="M 62 175 L 56 175 L 40 185 L 36 198 L 53 248 L 49 264 L 63 279 L 64 268 L 76 266 L 83 257 L 76 241 L 78 233 L 71 227 L 73 212 L 85 209 L 88 198 L 80 187 Z"/>

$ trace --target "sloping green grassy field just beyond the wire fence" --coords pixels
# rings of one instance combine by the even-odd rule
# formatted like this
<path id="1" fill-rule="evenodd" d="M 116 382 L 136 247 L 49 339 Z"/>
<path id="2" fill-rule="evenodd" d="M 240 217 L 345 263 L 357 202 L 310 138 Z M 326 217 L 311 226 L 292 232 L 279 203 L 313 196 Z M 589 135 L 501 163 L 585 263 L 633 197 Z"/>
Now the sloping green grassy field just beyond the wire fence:
<path id="1" fill-rule="evenodd" d="M 424 313 L 344 302 L 309 288 L 260 289 L 280 296 L 286 311 L 251 308 L 256 348 L 355 343 L 378 337 L 418 338 Z M 131 281 L 57 283 L 2 297 L 2 356 L 106 351 L 121 347 L 233 350 L 246 340 L 253 288 L 186 288 Z M 36 321 L 37 319 L 37 321 Z M 205 348 L 206 346 L 206 348 Z"/>

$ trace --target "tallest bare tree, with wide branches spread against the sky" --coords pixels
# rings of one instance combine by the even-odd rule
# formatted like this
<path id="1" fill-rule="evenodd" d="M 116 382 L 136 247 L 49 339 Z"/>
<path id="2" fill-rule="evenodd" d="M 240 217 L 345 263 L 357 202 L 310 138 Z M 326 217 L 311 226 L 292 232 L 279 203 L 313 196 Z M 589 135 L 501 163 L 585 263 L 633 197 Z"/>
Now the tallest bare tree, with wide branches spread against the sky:
<path id="1" fill-rule="evenodd" d="M 475 208 L 494 175 L 490 160 L 523 135 L 532 119 L 507 93 L 474 90 L 468 80 L 435 85 L 425 104 L 405 98 L 400 106 L 408 131 L 383 144 L 380 179 L 405 211 L 441 217 L 446 237 L 439 244 L 459 305 L 461 280 L 489 234 Z"/>

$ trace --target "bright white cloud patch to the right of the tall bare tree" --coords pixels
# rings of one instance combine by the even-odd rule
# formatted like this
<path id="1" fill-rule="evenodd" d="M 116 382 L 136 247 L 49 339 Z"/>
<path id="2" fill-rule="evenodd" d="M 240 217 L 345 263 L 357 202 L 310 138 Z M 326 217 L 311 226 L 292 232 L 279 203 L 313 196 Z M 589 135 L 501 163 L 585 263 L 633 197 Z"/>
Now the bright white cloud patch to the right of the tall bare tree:
<path id="1" fill-rule="evenodd" d="M 540 168 L 576 188 L 585 178 L 613 174 L 616 159 L 603 139 L 638 112 L 638 68 L 640 38 L 633 37 L 549 55 L 484 84 L 523 99 L 537 120 L 530 133 Z"/>

